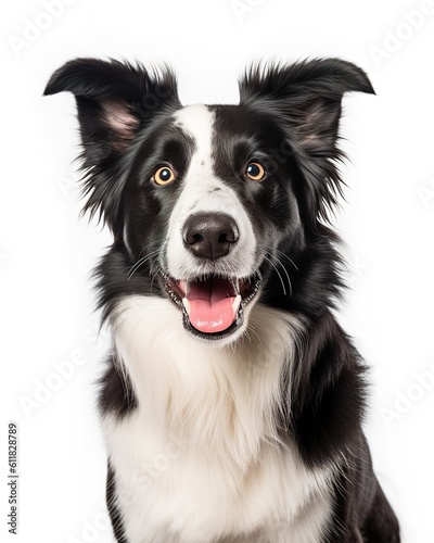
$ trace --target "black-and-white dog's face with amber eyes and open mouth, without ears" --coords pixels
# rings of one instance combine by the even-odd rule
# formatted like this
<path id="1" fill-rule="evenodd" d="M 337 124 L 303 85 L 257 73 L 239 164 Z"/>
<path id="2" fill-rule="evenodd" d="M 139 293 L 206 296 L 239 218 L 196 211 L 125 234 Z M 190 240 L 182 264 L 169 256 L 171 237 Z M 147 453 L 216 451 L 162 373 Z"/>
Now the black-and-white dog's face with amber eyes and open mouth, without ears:
<path id="1" fill-rule="evenodd" d="M 302 238 L 289 165 L 270 155 L 281 137 L 247 108 L 189 105 L 131 154 L 123 240 L 133 262 L 149 258 L 196 337 L 239 337 L 280 242 Z"/>

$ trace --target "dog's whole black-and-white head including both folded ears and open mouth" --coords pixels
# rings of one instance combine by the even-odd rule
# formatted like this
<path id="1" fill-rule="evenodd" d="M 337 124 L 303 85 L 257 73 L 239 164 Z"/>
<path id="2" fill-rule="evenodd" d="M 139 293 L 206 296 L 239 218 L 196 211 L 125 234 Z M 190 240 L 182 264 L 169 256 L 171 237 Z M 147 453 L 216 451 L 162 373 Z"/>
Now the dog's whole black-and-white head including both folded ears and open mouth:
<path id="1" fill-rule="evenodd" d="M 44 93 L 64 90 L 78 106 L 85 210 L 130 274 L 158 278 L 189 332 L 220 344 L 245 330 L 270 277 L 291 295 L 292 256 L 340 192 L 342 97 L 373 92 L 341 60 L 254 66 L 238 105 L 182 106 L 168 68 L 94 59 L 64 65 Z"/>

